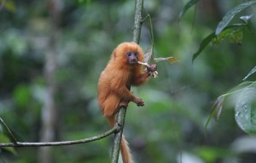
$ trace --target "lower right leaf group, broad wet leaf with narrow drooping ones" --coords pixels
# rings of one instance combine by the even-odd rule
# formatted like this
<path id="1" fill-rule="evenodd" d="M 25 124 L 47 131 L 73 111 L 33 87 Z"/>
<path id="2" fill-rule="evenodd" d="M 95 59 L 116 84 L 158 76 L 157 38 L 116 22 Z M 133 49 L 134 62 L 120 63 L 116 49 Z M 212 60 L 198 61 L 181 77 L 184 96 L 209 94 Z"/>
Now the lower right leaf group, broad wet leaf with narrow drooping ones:
<path id="1" fill-rule="evenodd" d="M 255 99 L 256 99 L 256 82 L 243 82 L 239 86 L 232 88 L 228 93 L 225 93 L 218 97 L 215 104 L 212 107 L 212 113 L 208 118 L 207 125 L 212 119 L 212 116 L 215 115 L 215 120 L 218 121 L 219 116 L 223 110 L 224 100 L 229 96 L 230 103 L 234 104 L 235 109 L 235 118 L 237 125 L 244 132 L 253 134 L 256 132 L 255 124 Z M 236 97 L 236 98 L 234 98 Z M 206 129 L 205 128 L 205 129 Z"/>

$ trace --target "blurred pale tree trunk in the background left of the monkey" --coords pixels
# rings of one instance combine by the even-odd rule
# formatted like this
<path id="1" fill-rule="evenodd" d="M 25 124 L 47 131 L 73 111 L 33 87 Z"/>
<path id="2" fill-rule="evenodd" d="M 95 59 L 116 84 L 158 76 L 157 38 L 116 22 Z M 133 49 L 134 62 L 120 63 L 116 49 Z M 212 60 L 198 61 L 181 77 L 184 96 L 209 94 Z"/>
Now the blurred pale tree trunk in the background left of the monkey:
<path id="1" fill-rule="evenodd" d="M 50 15 L 50 32 L 47 49 L 45 50 L 44 76 L 46 80 L 46 94 L 44 98 L 44 107 L 41 113 L 42 128 L 40 131 L 40 142 L 52 142 L 55 140 L 55 122 L 57 119 L 57 108 L 55 107 L 55 56 L 56 56 L 56 38 L 58 34 L 58 25 L 61 20 L 61 0 L 48 0 Z M 50 147 L 40 147 L 38 149 L 38 162 L 50 163 Z"/>

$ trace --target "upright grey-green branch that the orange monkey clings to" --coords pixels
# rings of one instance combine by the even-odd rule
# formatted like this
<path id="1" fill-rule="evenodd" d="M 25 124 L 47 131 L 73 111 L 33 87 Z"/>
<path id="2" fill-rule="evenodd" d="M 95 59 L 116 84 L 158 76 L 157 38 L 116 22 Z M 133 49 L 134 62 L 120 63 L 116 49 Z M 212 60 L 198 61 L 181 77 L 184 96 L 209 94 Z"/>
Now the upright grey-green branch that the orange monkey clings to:
<path id="1" fill-rule="evenodd" d="M 139 43 L 141 29 L 142 29 L 142 14 L 143 14 L 143 0 L 136 0 L 135 2 L 135 16 L 134 16 L 134 26 L 133 26 L 133 42 Z M 131 86 L 128 86 L 128 89 L 131 89 Z M 117 163 L 119 160 L 119 150 L 121 144 L 121 138 L 123 133 L 123 128 L 125 126 L 125 113 L 126 109 L 124 107 L 119 108 L 119 112 L 117 115 L 117 121 L 115 126 L 120 126 L 120 131 L 114 135 L 114 143 L 112 150 L 111 162 Z"/>

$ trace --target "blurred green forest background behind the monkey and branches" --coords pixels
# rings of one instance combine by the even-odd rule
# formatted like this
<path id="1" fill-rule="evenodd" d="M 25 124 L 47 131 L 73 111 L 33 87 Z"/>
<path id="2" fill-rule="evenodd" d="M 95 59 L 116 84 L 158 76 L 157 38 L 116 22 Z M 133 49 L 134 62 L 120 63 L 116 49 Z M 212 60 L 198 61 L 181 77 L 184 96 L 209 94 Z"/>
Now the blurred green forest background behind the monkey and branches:
<path id="1" fill-rule="evenodd" d="M 108 131 L 96 102 L 97 79 L 113 48 L 132 40 L 135 2 L 0 2 L 0 116 L 15 136 L 45 142 Z M 144 1 L 143 15 L 150 14 L 154 26 L 154 56 L 179 62 L 159 63 L 158 78 L 132 87 L 146 105 L 130 104 L 126 112 L 131 152 L 137 162 L 149 163 L 256 162 L 256 137 L 237 126 L 232 104 L 225 105 L 218 124 L 212 120 L 204 130 L 214 101 L 255 66 L 255 33 L 244 30 L 239 43 L 211 44 L 192 64 L 201 41 L 245 1 L 201 0 L 178 20 L 188 2 Z M 145 51 L 150 43 L 146 21 L 140 44 Z M 9 141 L 0 127 L 0 142 Z M 112 145 L 113 136 L 72 146 L 2 148 L 0 162 L 108 162 Z"/>

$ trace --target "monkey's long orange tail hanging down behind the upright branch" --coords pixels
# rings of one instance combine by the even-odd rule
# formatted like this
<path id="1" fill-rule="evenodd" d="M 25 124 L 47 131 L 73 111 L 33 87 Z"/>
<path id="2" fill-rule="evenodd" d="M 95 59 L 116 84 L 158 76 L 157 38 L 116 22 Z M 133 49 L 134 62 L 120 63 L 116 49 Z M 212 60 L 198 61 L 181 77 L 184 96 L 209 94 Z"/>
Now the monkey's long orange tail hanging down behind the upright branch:
<path id="1" fill-rule="evenodd" d="M 115 123 L 115 118 L 114 116 L 108 117 L 107 118 L 110 126 L 114 126 Z M 127 141 L 125 140 L 125 136 L 124 134 L 122 135 L 122 139 L 121 139 L 121 155 L 122 155 L 122 159 L 123 159 L 123 163 L 132 163 L 132 155 L 128 146 Z"/>

